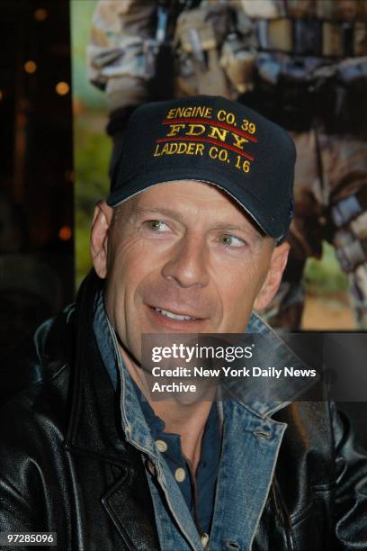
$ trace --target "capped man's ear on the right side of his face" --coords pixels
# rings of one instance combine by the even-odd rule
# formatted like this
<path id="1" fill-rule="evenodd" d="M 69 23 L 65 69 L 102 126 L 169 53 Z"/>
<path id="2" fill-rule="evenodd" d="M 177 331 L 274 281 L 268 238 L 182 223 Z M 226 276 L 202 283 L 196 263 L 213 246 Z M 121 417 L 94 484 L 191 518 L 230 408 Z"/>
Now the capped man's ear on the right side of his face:
<path id="1" fill-rule="evenodd" d="M 263 310 L 273 300 L 275 293 L 281 285 L 282 274 L 287 264 L 290 245 L 287 242 L 273 249 L 269 271 L 259 293 L 255 298 L 255 310 Z"/>

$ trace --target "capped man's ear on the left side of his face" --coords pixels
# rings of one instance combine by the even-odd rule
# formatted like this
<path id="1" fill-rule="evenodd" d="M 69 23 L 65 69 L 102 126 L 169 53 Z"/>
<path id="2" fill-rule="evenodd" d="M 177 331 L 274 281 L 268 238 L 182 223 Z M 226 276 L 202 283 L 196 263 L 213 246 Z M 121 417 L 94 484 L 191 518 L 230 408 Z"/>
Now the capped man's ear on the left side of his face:
<path id="1" fill-rule="evenodd" d="M 90 251 L 94 269 L 104 279 L 107 275 L 108 230 L 112 222 L 113 209 L 104 201 L 95 205 L 91 230 Z"/>

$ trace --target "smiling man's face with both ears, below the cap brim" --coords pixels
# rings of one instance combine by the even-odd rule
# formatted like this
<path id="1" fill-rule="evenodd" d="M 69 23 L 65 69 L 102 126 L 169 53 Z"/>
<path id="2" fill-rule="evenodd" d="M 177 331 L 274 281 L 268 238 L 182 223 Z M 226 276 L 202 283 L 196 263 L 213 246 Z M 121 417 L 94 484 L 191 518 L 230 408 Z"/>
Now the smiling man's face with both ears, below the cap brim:
<path id="1" fill-rule="evenodd" d="M 155 185 L 114 216 L 101 203 L 92 232 L 107 315 L 137 359 L 141 333 L 243 332 L 279 285 L 282 247 L 227 194 L 191 180 Z"/>

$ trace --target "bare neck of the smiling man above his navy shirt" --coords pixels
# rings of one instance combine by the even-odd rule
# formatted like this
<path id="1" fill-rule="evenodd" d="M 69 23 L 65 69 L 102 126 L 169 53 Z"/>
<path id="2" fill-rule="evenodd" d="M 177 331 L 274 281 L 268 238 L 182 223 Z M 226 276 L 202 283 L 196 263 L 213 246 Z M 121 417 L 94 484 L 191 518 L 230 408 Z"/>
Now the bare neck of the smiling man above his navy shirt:
<path id="1" fill-rule="evenodd" d="M 155 414 L 164 421 L 165 431 L 181 436 L 183 456 L 188 459 L 192 472 L 196 472 L 201 457 L 201 439 L 209 417 L 214 391 L 207 393 L 205 400 L 196 402 L 183 401 L 183 396 L 173 396 L 169 400 L 152 401 L 142 370 L 121 348 L 121 356 L 133 381 L 147 398 Z M 186 397 L 187 398 L 187 397 Z"/>

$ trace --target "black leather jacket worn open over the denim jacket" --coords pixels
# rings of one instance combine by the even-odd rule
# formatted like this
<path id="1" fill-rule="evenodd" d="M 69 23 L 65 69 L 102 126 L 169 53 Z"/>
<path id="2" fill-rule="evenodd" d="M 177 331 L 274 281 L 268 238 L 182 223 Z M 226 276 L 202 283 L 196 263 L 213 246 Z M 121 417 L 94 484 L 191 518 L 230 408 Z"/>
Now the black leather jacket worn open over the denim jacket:
<path id="1" fill-rule="evenodd" d="M 159 549 L 144 465 L 94 339 L 98 285 L 88 276 L 76 309 L 38 333 L 28 366 L 40 380 L 1 411 L 0 531 L 56 531 L 50 549 Z M 273 418 L 288 429 L 253 550 L 367 549 L 367 456 L 348 421 L 325 402 Z"/>

